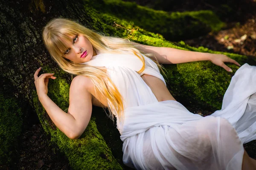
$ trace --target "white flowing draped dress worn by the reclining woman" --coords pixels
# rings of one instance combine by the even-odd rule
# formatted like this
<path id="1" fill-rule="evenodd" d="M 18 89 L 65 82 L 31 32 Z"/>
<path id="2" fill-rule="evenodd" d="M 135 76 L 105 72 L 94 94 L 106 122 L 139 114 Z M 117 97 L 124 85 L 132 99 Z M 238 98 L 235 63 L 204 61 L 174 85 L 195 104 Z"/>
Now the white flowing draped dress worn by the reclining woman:
<path id="1" fill-rule="evenodd" d="M 143 57 L 140 75 L 142 62 L 131 53 L 98 54 L 83 63 L 106 67 L 124 99 L 124 121 L 117 117 L 123 162 L 138 170 L 241 170 L 243 143 L 256 139 L 256 67 L 241 66 L 222 109 L 203 117 L 177 101 L 158 102 L 140 76 L 165 80 L 157 65 Z"/>

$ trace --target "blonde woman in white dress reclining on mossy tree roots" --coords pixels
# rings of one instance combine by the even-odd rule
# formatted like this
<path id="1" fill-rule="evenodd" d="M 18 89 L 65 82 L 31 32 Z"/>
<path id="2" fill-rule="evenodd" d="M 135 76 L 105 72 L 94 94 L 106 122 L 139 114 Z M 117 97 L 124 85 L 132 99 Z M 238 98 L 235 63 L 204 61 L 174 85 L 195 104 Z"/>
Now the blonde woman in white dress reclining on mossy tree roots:
<path id="1" fill-rule="evenodd" d="M 51 20 L 44 27 L 43 39 L 58 65 L 78 75 L 70 85 L 70 106 L 65 113 L 47 96 L 48 81 L 56 77 L 50 73 L 38 77 L 41 68 L 34 74 L 40 102 L 54 124 L 70 139 L 81 136 L 90 120 L 92 105 L 96 105 L 109 108 L 111 118 L 116 117 L 124 142 L 123 161 L 129 167 L 256 168 L 256 160 L 247 155 L 242 145 L 256 139 L 256 114 L 252 109 L 256 90 L 253 87 L 243 93 L 238 90 L 241 82 L 256 81 L 243 74 L 254 75 L 255 67 L 245 64 L 239 68 L 224 96 L 221 111 L 202 117 L 190 113 L 169 93 L 159 63 L 209 60 L 232 72 L 224 62 L 239 65 L 235 60 L 222 54 L 153 47 L 105 37 L 66 19 Z"/>

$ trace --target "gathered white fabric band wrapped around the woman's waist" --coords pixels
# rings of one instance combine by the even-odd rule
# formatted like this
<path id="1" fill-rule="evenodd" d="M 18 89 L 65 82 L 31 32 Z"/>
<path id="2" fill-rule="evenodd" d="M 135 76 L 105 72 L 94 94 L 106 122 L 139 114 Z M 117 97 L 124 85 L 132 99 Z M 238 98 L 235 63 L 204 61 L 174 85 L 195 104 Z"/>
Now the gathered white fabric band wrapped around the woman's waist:
<path id="1" fill-rule="evenodd" d="M 154 126 L 168 125 L 172 127 L 172 125 L 201 118 L 202 116 L 189 112 L 179 102 L 167 100 L 125 108 L 123 122 L 117 119 L 116 123 L 123 140 Z"/>

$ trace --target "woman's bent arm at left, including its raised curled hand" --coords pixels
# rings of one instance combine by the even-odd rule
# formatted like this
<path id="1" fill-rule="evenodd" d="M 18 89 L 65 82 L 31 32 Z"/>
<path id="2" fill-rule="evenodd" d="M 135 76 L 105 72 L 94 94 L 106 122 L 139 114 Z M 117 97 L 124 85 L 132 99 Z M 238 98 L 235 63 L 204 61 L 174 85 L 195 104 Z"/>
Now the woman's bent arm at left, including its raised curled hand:
<path id="1" fill-rule="evenodd" d="M 68 113 L 61 110 L 48 96 L 47 85 L 53 74 L 35 74 L 35 86 L 39 101 L 47 111 L 52 122 L 70 139 L 77 139 L 87 127 L 92 112 L 91 94 L 87 91 L 87 80 L 74 78 L 70 85 L 70 106 Z"/>

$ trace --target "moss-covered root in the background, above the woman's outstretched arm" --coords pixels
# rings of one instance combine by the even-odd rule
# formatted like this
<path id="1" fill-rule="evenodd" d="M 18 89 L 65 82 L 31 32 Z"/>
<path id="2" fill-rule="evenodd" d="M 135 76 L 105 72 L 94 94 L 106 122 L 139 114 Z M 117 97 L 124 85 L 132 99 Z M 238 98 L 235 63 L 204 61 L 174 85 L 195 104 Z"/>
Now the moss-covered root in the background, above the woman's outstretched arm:
<path id="1" fill-rule="evenodd" d="M 166 40 L 172 41 L 219 31 L 225 25 L 209 10 L 168 13 L 122 0 L 97 0 L 97 3 L 86 0 L 86 4 L 147 31 L 162 34 Z"/>

